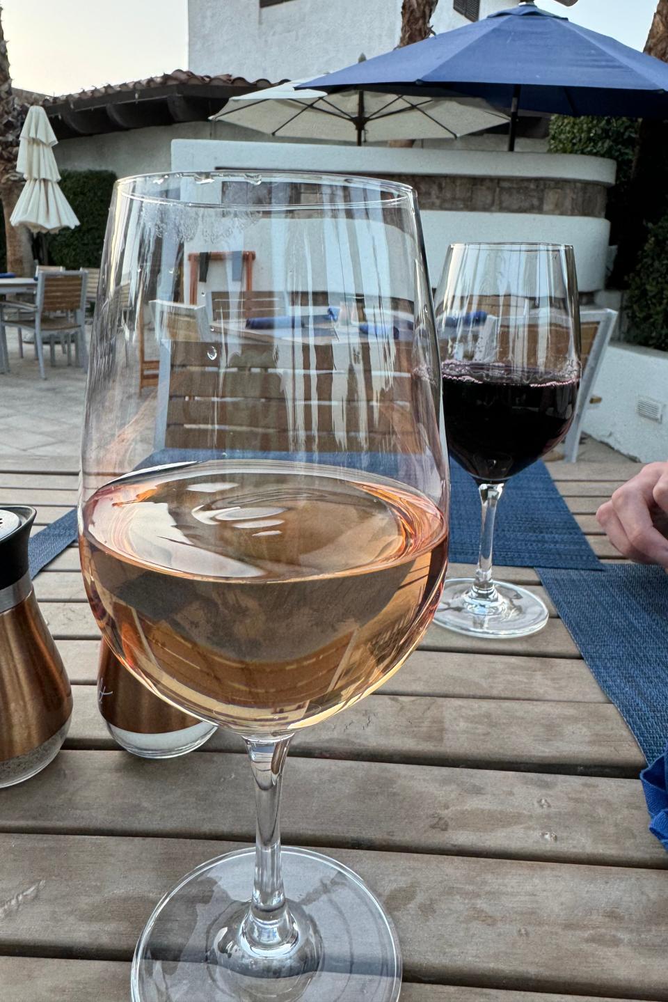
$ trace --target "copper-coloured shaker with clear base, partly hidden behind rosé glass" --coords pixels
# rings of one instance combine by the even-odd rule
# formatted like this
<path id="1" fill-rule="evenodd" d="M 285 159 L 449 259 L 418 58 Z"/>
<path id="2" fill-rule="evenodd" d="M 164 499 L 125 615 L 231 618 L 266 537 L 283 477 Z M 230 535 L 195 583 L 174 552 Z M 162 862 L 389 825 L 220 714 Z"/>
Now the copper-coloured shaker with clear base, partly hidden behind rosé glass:
<path id="1" fill-rule="evenodd" d="M 217 727 L 165 702 L 135 678 L 105 640 L 100 644 L 97 704 L 113 739 L 140 759 L 175 759 Z"/>

